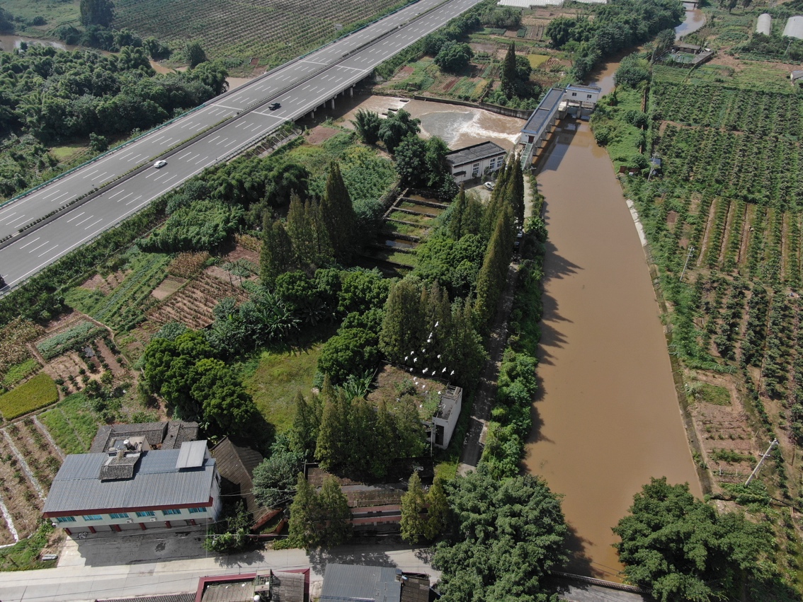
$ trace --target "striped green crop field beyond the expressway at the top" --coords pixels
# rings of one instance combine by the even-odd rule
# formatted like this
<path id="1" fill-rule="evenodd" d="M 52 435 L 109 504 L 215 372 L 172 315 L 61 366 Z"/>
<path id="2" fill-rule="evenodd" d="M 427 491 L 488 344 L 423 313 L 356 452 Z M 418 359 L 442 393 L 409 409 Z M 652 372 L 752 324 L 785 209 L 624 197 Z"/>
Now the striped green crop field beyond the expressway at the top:
<path id="1" fill-rule="evenodd" d="M 117 0 L 115 25 L 174 48 L 197 40 L 213 59 L 257 59 L 259 65 L 275 66 L 334 39 L 336 25 L 349 26 L 405 3 L 324 0 L 293 10 L 277 0 Z"/>

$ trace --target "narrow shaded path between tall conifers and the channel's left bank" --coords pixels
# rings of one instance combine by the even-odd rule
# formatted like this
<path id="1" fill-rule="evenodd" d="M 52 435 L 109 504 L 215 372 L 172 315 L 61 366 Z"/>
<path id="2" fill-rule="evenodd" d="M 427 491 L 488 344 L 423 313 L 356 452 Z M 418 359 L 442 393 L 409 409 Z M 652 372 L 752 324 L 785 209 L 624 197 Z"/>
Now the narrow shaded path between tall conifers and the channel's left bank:
<path id="1" fill-rule="evenodd" d="M 499 301 L 494 323 L 491 325 L 491 340 L 488 344 L 488 360 L 485 362 L 483 374 L 479 377 L 479 388 L 474 397 L 471 408 L 471 421 L 463 441 L 463 454 L 460 455 L 458 474 L 466 474 L 474 470 L 483 455 L 485 435 L 488 428 L 488 418 L 491 417 L 491 407 L 496 399 L 496 377 L 499 374 L 499 365 L 502 363 L 502 354 L 507 343 L 507 316 L 513 307 L 513 294 L 516 291 L 516 281 L 519 278 L 519 266 L 512 263 L 507 268 L 507 287 Z"/>

